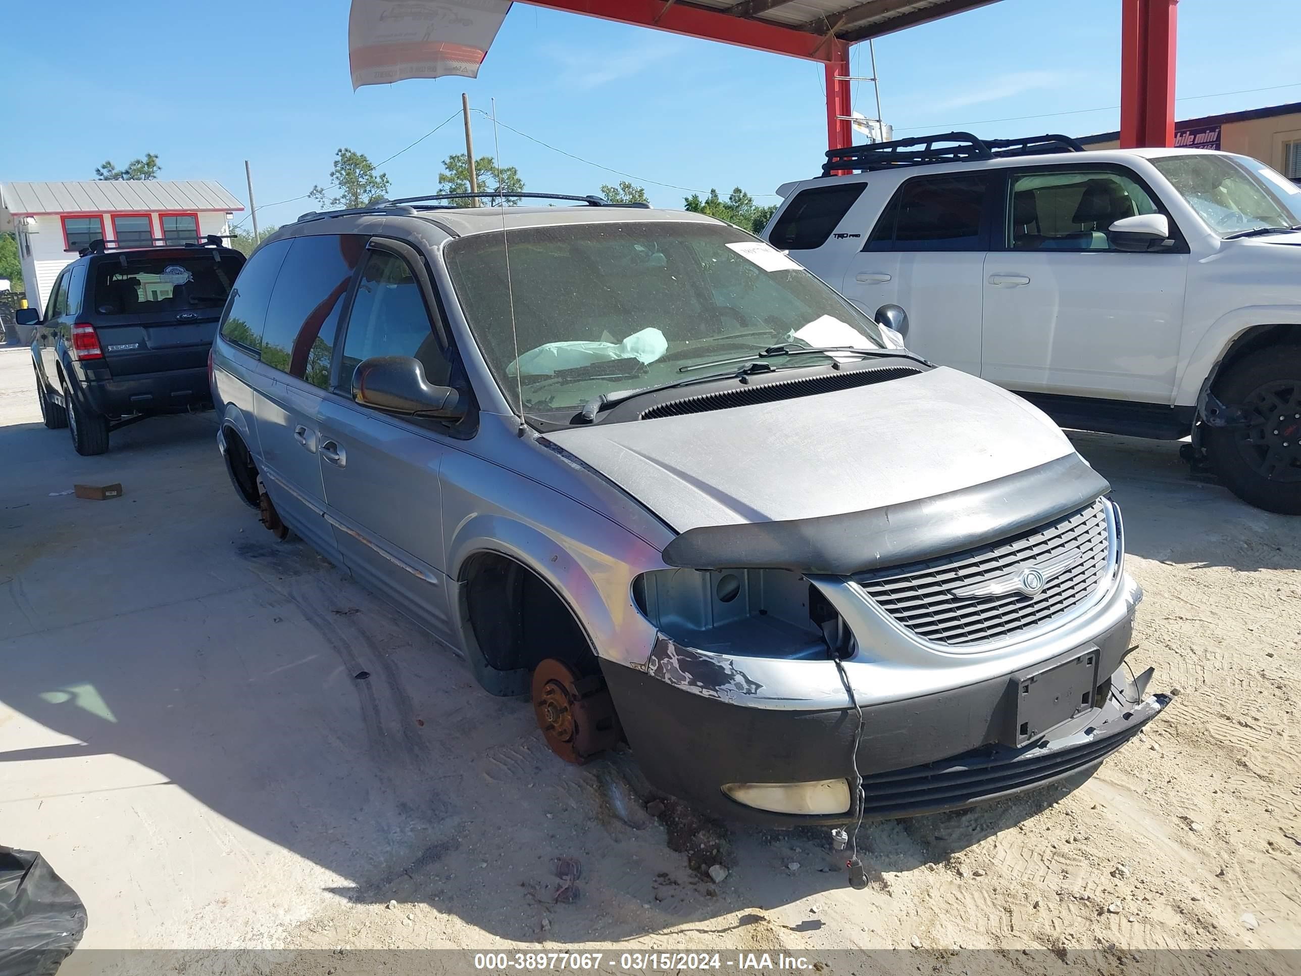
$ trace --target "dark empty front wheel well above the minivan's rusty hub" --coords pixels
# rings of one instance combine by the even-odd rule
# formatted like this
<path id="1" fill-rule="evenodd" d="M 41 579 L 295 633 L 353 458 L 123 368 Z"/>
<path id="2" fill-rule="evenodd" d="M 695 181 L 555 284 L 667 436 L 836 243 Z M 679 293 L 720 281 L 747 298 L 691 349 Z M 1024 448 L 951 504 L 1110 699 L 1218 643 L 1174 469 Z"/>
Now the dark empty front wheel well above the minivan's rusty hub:
<path id="1" fill-rule="evenodd" d="M 466 643 L 471 655 L 481 657 L 476 665 L 528 674 L 554 657 L 579 674 L 598 673 L 574 612 L 531 569 L 498 553 L 480 553 L 466 562 L 461 579 L 462 619 L 474 638 Z M 475 670 L 484 681 L 481 669 Z"/>

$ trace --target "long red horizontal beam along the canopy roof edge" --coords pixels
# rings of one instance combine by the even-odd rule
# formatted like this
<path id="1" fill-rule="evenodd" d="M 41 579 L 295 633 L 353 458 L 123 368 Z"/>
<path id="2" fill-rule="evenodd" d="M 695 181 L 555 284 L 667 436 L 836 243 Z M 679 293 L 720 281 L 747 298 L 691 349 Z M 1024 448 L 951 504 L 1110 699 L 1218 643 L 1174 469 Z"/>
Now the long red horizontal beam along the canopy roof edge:
<path id="1" fill-rule="evenodd" d="M 671 7 L 666 7 L 665 0 L 527 0 L 527 3 L 809 61 L 830 61 L 835 47 L 835 43 L 822 34 L 809 34 L 766 21 L 731 17 L 722 10 L 683 3 Z"/>

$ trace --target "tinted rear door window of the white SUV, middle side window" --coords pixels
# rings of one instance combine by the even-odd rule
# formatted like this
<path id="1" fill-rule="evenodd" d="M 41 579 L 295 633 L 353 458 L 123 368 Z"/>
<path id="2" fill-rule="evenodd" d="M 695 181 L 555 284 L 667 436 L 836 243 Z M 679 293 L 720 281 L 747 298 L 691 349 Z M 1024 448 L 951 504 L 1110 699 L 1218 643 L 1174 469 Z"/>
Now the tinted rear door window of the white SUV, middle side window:
<path id="1" fill-rule="evenodd" d="M 985 176 L 928 176 L 895 194 L 872 232 L 868 251 L 984 251 Z"/>

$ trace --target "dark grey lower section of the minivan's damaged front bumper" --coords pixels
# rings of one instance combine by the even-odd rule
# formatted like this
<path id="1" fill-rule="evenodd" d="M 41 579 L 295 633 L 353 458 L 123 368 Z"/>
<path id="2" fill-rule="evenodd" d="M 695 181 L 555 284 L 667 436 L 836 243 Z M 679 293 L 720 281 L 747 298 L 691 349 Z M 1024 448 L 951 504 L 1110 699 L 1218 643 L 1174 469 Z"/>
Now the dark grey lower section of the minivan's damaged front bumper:
<path id="1" fill-rule="evenodd" d="M 727 789 L 844 779 L 852 796 L 850 755 L 857 724 L 852 709 L 747 708 L 683 694 L 622 665 L 606 664 L 602 670 L 643 772 L 656 787 L 716 816 L 771 826 L 846 824 L 857 816 L 852 799 L 835 813 L 786 813 L 739 803 Z M 997 683 L 1006 687 L 1010 677 Z M 1168 695 L 1144 696 L 1147 677 L 1128 681 L 1123 668 L 1116 670 L 1101 707 L 1021 747 L 987 742 L 961 747 L 964 740 L 987 738 L 1000 724 L 999 707 L 985 711 L 990 688 L 984 686 L 864 708 L 857 753 L 863 815 L 872 820 L 937 813 L 1088 776 L 1170 704 Z M 943 757 L 917 761 L 928 752 L 943 752 L 946 742 Z"/>

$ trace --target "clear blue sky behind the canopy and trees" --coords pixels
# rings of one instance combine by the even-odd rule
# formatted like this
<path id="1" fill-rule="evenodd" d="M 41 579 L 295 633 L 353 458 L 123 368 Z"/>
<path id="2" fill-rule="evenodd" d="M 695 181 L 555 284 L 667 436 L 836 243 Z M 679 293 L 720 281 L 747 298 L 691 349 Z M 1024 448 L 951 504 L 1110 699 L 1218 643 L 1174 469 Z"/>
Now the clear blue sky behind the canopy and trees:
<path id="1" fill-rule="evenodd" d="M 156 152 L 164 178 L 219 180 L 245 199 L 248 159 L 259 204 L 269 204 L 327 182 L 340 146 L 376 161 L 398 152 L 458 112 L 462 91 L 481 109 L 496 99 L 515 129 L 634 174 L 657 206 L 682 206 L 684 190 L 674 187 L 726 194 L 736 185 L 775 202 L 762 194 L 816 172 L 826 148 L 820 65 L 523 3 L 479 78 L 354 92 L 347 8 L 12 5 L 5 34 L 27 40 L 7 46 L 0 81 L 7 133 L 22 137 L 0 143 L 0 182 L 88 180 L 104 159 L 121 165 Z M 1119 25 L 1120 0 L 1002 0 L 887 35 L 876 46 L 885 118 L 900 137 L 1115 129 Z M 1183 0 L 1179 27 L 1180 118 L 1301 102 L 1301 0 Z M 39 40 L 55 36 L 57 48 Z M 853 52 L 852 73 L 869 74 L 866 44 Z M 1215 96 L 1189 98 L 1201 95 Z M 870 85 L 855 86 L 855 105 L 873 115 Z M 1020 116 L 1041 117 L 991 121 Z M 623 178 L 506 129 L 500 142 L 502 163 L 531 190 L 595 193 Z M 463 148 L 453 120 L 385 164 L 393 193 L 436 193 L 441 161 Z M 483 117 L 475 148 L 493 151 Z M 259 220 L 280 224 L 310 208 L 268 207 Z"/>

